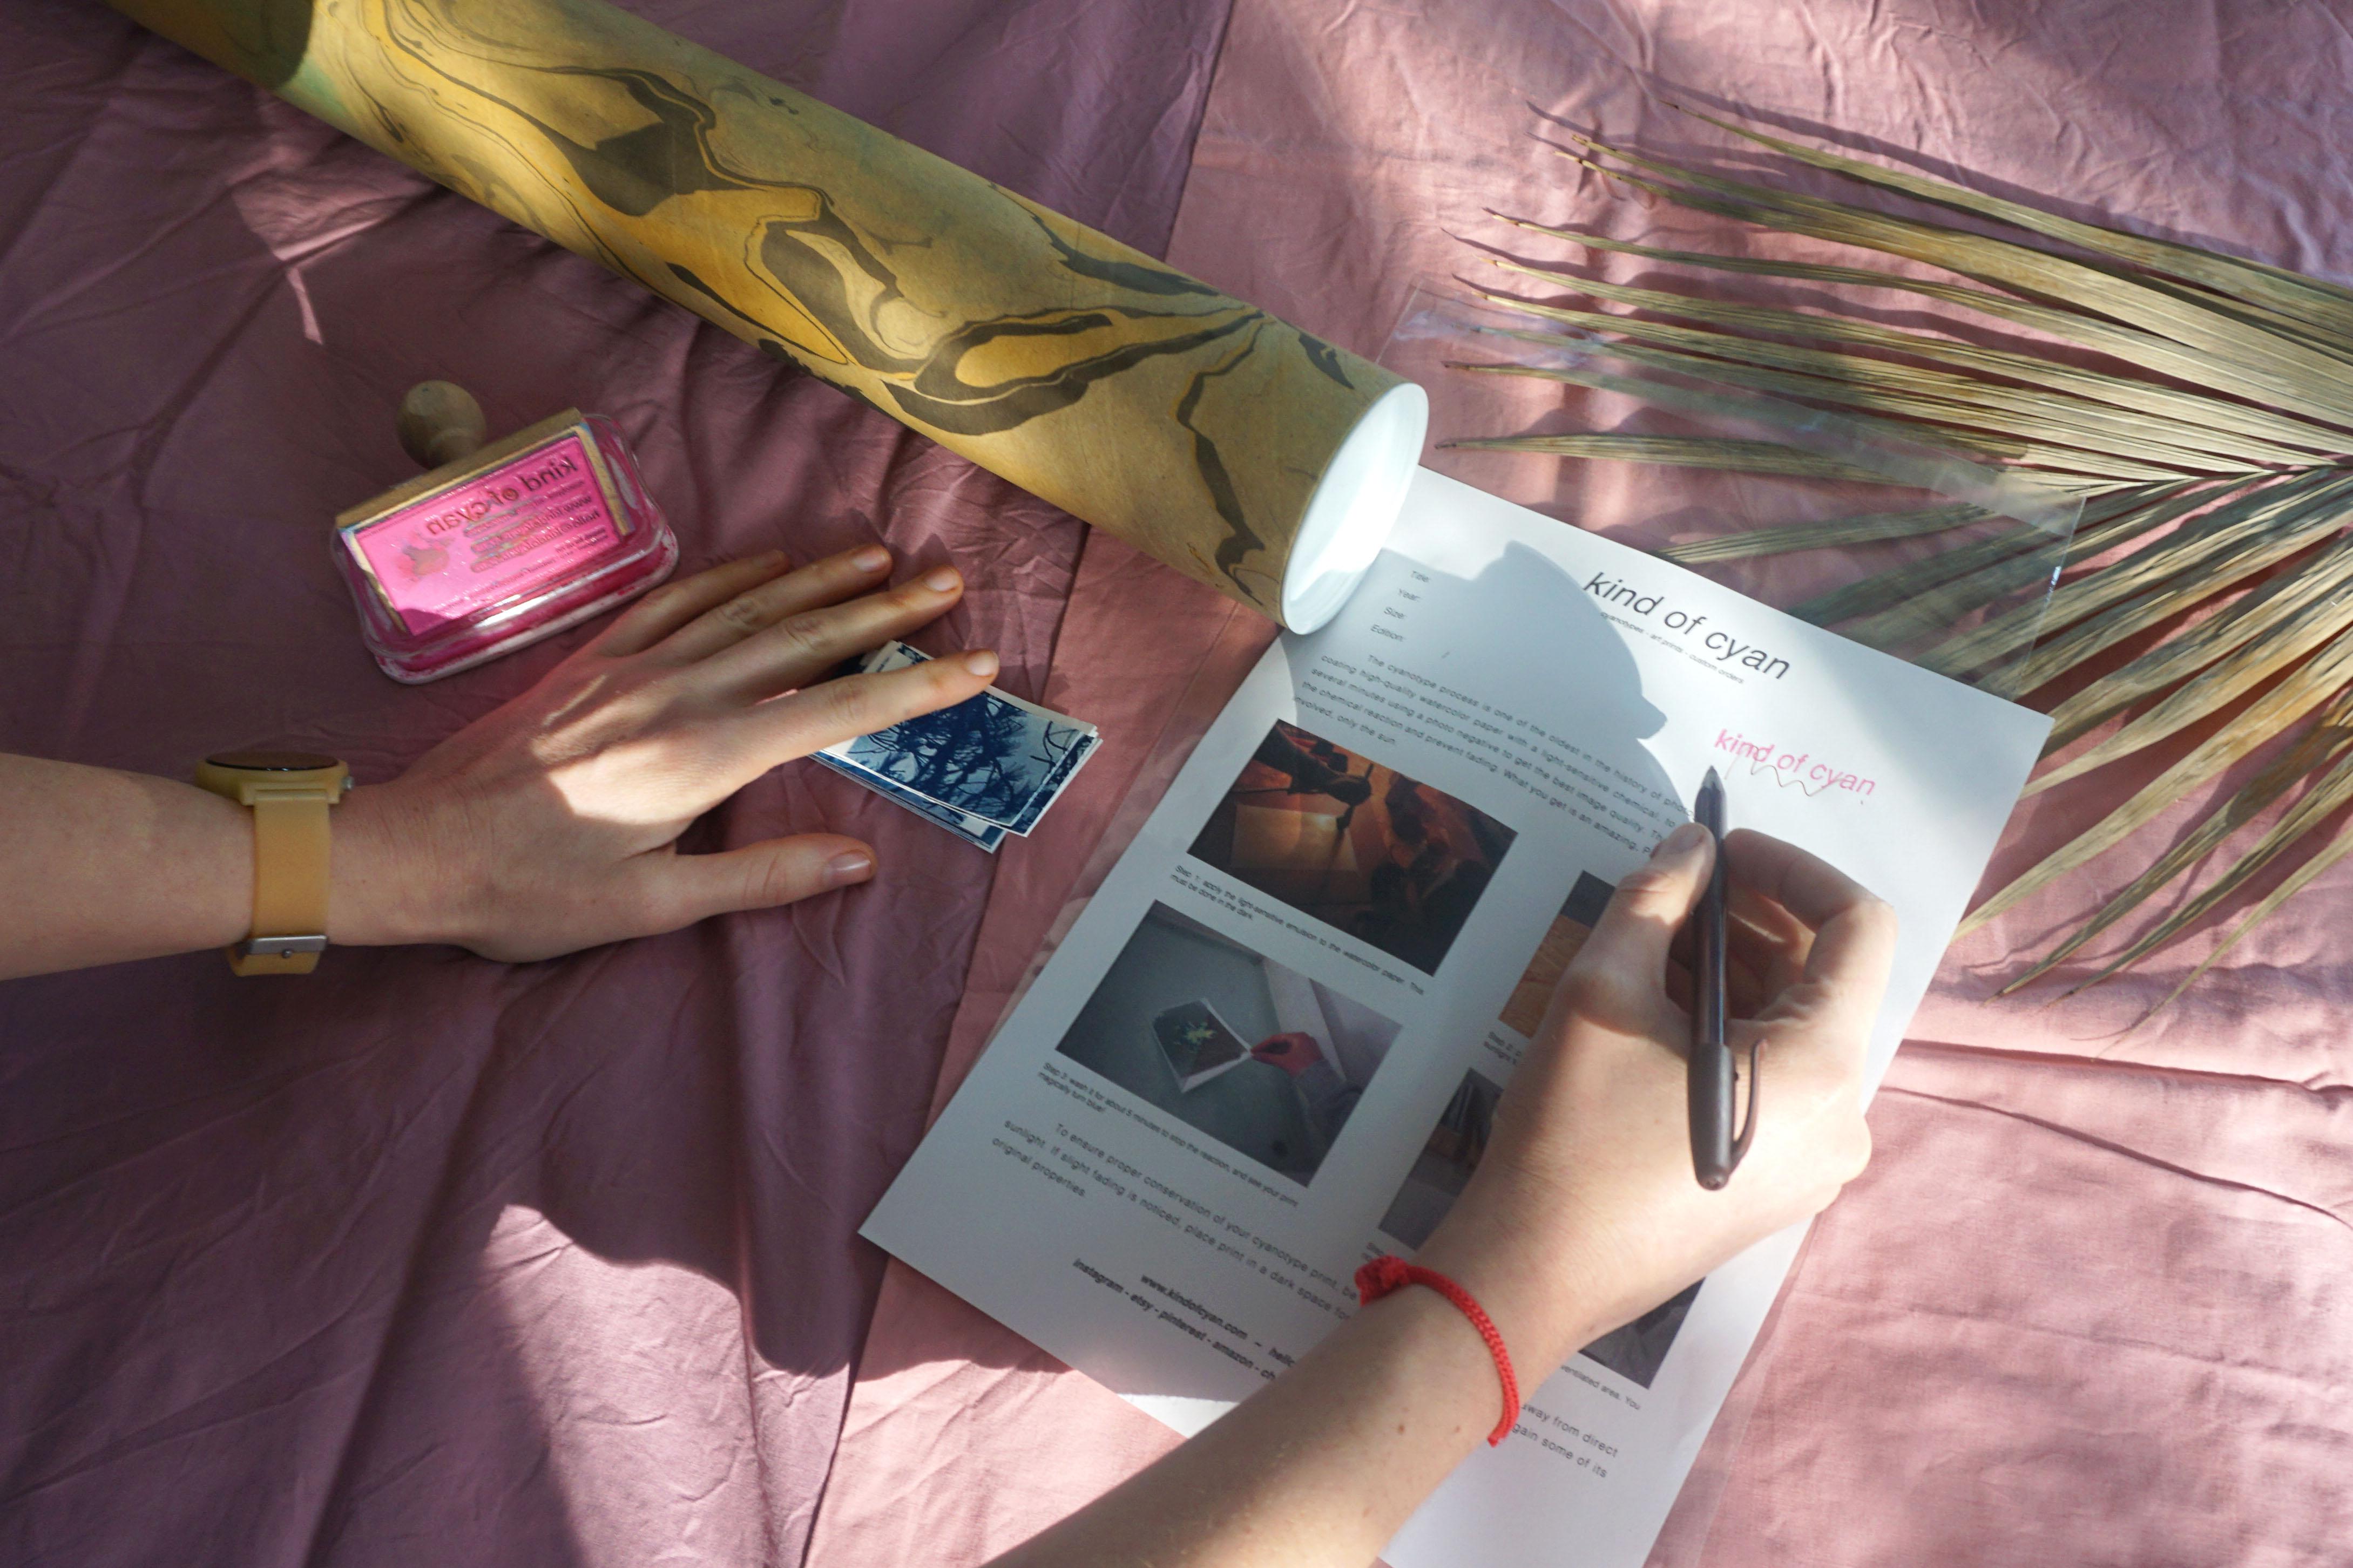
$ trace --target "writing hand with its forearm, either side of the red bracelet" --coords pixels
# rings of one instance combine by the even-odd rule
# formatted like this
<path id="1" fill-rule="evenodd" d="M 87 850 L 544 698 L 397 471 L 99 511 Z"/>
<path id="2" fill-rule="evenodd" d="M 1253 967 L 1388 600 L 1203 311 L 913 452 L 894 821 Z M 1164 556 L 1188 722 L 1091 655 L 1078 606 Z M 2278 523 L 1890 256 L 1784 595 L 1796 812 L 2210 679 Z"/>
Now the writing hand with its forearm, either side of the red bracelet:
<path id="1" fill-rule="evenodd" d="M 1732 1039 L 1774 1081 L 1739 1180 L 1692 1180 L 1675 931 L 1715 849 L 1687 823 L 1619 884 L 1511 1079 L 1478 1173 L 1414 1255 L 1475 1298 L 1520 1387 L 1753 1241 L 1871 1152 L 1864 1046 L 1894 912 L 1805 853 L 1725 837 Z M 1358 1568 L 1497 1422 L 1501 1368 L 1438 1291 L 1367 1300 L 1214 1427 L 998 1568 Z"/>

